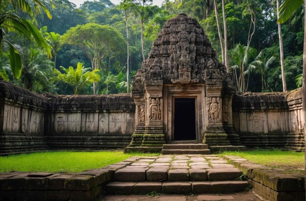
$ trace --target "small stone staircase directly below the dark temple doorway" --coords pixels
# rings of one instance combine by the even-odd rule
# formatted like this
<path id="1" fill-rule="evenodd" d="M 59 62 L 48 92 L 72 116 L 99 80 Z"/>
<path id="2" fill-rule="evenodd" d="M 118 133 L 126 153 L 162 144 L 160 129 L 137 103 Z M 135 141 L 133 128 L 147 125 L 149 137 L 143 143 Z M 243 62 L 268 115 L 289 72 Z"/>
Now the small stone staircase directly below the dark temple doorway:
<path id="1" fill-rule="evenodd" d="M 210 154 L 206 144 L 165 144 L 162 154 Z"/>

